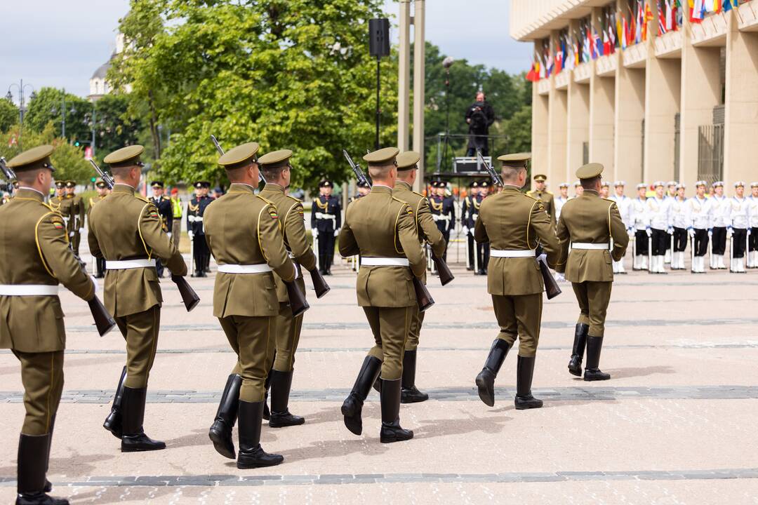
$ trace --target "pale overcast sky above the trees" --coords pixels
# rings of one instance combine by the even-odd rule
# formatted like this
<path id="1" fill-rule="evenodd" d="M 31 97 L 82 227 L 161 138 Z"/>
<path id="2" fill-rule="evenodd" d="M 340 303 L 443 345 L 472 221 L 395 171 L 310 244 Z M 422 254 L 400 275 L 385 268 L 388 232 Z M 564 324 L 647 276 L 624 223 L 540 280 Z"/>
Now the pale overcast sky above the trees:
<path id="1" fill-rule="evenodd" d="M 385 2 L 396 16 L 396 2 Z M 528 70 L 531 44 L 509 36 L 510 2 L 427 0 L 427 40 L 453 58 L 509 72 Z M 128 0 L 0 0 L 0 96 L 20 79 L 35 89 L 55 86 L 88 95 L 89 77 L 108 61 L 118 18 L 128 6 Z M 396 30 L 392 36 L 396 40 Z M 27 97 L 30 91 L 27 87 Z M 16 86 L 11 92 L 17 100 Z"/>

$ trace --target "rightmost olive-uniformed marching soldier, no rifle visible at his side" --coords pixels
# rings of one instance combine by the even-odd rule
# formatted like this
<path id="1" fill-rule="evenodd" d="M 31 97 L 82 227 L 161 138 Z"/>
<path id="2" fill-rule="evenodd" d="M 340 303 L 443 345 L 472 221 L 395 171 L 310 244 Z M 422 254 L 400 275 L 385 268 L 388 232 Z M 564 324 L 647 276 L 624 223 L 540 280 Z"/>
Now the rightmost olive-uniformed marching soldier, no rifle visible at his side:
<path id="1" fill-rule="evenodd" d="M 599 196 L 602 173 L 603 165 L 599 163 L 584 165 L 576 171 L 584 194 L 565 204 L 558 223 L 561 254 L 556 272 L 565 273 L 565 279 L 572 282 L 580 310 L 568 371 L 581 376 L 586 345 L 585 381 L 611 378 L 610 374 L 601 372 L 599 368 L 606 310 L 613 285 L 610 263 L 611 259 L 621 259 L 629 243 L 619 208 L 613 201 Z"/>

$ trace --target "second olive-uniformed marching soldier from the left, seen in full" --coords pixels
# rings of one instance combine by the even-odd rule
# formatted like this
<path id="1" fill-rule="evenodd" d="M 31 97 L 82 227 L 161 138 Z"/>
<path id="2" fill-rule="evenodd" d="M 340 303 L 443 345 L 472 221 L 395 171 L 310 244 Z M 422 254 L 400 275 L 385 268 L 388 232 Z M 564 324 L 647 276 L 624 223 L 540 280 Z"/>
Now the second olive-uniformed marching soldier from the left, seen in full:
<path id="1" fill-rule="evenodd" d="M 89 213 L 89 251 L 105 258 L 105 307 L 127 344 L 111 413 L 103 427 L 121 438 L 121 452 L 164 449 L 143 430 L 147 384 L 158 344 L 163 297 L 155 261 L 164 260 L 172 276 L 185 276 L 186 264 L 163 230 L 158 209 L 135 192 L 142 176 L 144 148 L 130 145 L 108 154 L 113 191 Z"/>

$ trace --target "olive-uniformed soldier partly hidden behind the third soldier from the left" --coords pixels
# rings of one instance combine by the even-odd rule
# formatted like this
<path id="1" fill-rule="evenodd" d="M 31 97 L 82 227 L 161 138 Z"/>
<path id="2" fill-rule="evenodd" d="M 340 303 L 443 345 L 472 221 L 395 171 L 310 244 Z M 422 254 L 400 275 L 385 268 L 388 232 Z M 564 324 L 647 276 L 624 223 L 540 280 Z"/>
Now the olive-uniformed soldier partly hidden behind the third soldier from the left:
<path id="1" fill-rule="evenodd" d="M 258 164 L 267 181 L 261 192 L 261 197 L 273 202 L 277 208 L 284 246 L 287 248 L 290 258 L 295 262 L 297 285 L 300 291 L 305 293 L 305 282 L 302 279 L 301 267 L 311 271 L 318 268 L 318 264 L 308 237 L 305 235 L 302 201 L 287 195 L 293 170 L 290 164 L 291 156 L 292 151 L 282 149 L 264 154 L 258 159 Z M 276 319 L 276 331 L 272 335 L 276 345 L 274 348 L 274 366 L 268 378 L 268 385 L 271 387 L 271 413 L 269 413 L 268 426 L 283 428 L 284 426 L 301 425 L 305 422 L 302 417 L 291 414 L 288 408 L 294 373 L 295 351 L 297 351 L 300 331 L 302 330 L 302 314 L 293 318 L 290 298 L 287 296 L 287 287 L 279 276 L 274 276 L 274 281 L 277 284 L 279 315 Z"/>

